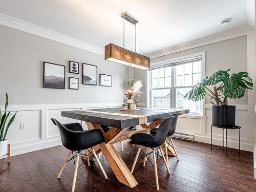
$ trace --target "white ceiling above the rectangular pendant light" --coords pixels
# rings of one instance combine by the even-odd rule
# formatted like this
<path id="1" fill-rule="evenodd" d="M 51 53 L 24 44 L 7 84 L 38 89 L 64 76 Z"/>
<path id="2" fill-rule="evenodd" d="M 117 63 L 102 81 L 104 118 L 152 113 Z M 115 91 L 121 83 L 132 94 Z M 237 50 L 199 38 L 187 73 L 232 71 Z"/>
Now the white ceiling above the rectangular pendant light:
<path id="1" fill-rule="evenodd" d="M 137 52 L 150 53 L 247 25 L 245 0 L 0 0 L 0 12 L 103 48 L 122 46 L 124 11 L 137 24 Z M 232 18 L 227 26 L 220 20 Z M 125 23 L 125 48 L 134 50 L 134 26 Z"/>

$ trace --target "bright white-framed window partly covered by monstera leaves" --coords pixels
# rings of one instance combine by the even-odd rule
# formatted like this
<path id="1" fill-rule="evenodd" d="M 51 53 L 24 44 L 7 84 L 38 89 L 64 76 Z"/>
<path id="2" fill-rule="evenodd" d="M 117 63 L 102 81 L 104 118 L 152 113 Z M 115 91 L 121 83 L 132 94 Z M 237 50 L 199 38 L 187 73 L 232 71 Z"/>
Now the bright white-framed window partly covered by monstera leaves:
<path id="1" fill-rule="evenodd" d="M 152 68 L 149 73 L 153 108 L 185 108 L 190 114 L 201 115 L 201 101 L 184 99 L 184 95 L 202 78 L 201 57 L 168 63 Z"/>

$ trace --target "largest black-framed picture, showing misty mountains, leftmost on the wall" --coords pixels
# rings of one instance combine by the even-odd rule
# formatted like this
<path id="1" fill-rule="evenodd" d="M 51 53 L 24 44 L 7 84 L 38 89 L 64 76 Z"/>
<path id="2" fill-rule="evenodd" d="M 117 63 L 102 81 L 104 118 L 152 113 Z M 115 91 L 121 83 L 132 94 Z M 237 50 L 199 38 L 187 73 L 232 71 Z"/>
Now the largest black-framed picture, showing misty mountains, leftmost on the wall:
<path id="1" fill-rule="evenodd" d="M 42 87 L 52 89 L 65 89 L 65 71 L 65 66 L 44 62 Z"/>

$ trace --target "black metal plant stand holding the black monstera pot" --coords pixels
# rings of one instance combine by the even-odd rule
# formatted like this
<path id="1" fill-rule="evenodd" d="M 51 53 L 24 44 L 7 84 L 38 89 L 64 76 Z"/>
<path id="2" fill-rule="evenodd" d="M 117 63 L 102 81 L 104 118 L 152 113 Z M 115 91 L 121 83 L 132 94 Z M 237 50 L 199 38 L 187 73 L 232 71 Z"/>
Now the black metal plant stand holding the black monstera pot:
<path id="1" fill-rule="evenodd" d="M 216 127 L 219 129 L 223 129 L 223 148 L 213 148 L 212 147 L 212 127 Z M 225 130 L 226 130 L 226 140 L 225 140 Z M 216 126 L 214 124 L 211 124 L 211 130 L 210 130 L 210 150 L 223 150 L 225 151 L 225 155 L 227 156 L 227 152 L 237 152 L 237 151 L 228 151 L 227 150 L 227 130 L 239 130 L 239 156 L 240 156 L 240 130 L 241 126 L 234 125 L 233 127 L 223 127 L 223 126 Z"/>

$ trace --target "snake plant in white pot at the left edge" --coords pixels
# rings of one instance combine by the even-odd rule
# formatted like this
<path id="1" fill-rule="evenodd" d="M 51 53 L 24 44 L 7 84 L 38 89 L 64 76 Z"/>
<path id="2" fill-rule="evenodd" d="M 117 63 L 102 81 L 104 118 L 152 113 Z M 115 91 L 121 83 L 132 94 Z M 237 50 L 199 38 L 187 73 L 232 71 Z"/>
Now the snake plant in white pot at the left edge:
<path id="1" fill-rule="evenodd" d="M 12 124 L 12 122 L 14 121 L 16 113 L 17 113 L 17 112 L 15 112 L 15 114 L 8 121 L 10 112 L 7 113 L 7 107 L 8 107 L 8 94 L 6 93 L 5 111 L 2 112 L 0 109 L 0 156 L 7 154 L 8 141 L 6 139 L 6 135 L 7 135 L 8 129 L 9 129 L 10 125 Z M 8 121 L 8 123 L 7 123 L 7 121 Z"/>

